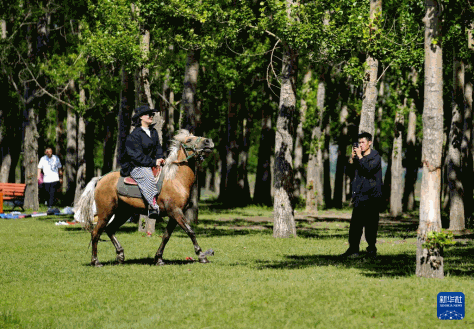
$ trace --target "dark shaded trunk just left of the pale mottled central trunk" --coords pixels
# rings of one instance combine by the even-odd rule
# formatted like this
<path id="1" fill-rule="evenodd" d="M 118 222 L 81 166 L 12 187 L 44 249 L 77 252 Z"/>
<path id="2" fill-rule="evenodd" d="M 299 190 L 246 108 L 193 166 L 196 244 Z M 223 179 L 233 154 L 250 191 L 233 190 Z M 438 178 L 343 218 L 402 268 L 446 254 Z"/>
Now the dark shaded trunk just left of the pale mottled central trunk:
<path id="1" fill-rule="evenodd" d="M 260 145 L 258 148 L 257 175 L 255 178 L 255 190 L 253 202 L 271 207 L 272 200 L 272 171 L 271 157 L 272 147 L 275 145 L 275 133 L 272 129 L 272 109 L 268 104 L 262 106 L 262 131 L 260 133 Z"/>

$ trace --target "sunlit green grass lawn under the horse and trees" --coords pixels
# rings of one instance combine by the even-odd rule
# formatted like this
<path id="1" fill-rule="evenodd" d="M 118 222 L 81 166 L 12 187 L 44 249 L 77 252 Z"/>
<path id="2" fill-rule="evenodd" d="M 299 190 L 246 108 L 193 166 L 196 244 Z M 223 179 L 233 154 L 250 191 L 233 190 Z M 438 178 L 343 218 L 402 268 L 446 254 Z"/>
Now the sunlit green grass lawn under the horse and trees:
<path id="1" fill-rule="evenodd" d="M 103 235 L 102 268 L 89 266 L 90 234 L 46 219 L 0 219 L 0 328 L 445 328 L 474 327 L 474 243 L 446 251 L 443 280 L 415 272 L 416 223 L 380 225 L 379 257 L 341 262 L 347 219 L 298 220 L 298 237 L 272 237 L 271 209 L 203 205 L 197 238 L 214 249 L 196 258 L 177 229 L 151 266 L 163 223 L 151 237 L 117 233 L 125 264 Z M 361 245 L 365 248 L 366 244 Z M 436 317 L 439 292 L 463 292 L 466 317 Z"/>

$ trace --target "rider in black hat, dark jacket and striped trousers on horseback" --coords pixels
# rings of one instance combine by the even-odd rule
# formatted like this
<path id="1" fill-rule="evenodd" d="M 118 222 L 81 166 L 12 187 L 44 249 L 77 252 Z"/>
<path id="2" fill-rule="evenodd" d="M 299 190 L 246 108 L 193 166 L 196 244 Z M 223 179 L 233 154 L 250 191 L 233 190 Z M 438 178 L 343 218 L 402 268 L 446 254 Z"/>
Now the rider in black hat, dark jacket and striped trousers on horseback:
<path id="1" fill-rule="evenodd" d="M 131 176 L 138 183 L 140 192 L 148 202 L 148 217 L 158 219 L 158 189 L 151 168 L 163 165 L 165 160 L 158 132 L 153 127 L 154 112 L 158 110 L 143 105 L 137 108 L 132 117 L 136 128 L 127 136 L 120 175 Z"/>

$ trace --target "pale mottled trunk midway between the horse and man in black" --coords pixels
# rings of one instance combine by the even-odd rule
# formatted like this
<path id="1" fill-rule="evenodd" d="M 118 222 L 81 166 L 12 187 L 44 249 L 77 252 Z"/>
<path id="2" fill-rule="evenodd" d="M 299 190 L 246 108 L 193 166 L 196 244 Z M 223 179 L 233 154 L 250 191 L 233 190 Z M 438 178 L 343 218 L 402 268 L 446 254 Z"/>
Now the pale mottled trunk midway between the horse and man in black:
<path id="1" fill-rule="evenodd" d="M 287 0 L 287 5 L 292 1 Z M 280 104 L 275 135 L 275 196 L 273 202 L 273 237 L 296 237 L 293 210 L 293 118 L 296 106 L 297 57 L 289 46 L 283 54 Z"/>

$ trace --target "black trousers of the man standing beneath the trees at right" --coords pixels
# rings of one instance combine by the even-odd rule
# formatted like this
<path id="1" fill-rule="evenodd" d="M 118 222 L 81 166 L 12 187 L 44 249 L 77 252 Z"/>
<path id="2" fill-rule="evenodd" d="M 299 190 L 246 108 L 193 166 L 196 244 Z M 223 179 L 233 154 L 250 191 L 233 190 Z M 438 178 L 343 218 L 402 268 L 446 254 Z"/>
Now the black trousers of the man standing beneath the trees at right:
<path id="1" fill-rule="evenodd" d="M 349 228 L 349 250 L 359 252 L 362 230 L 365 227 L 365 240 L 369 244 L 368 252 L 377 252 L 377 230 L 379 227 L 379 202 L 378 198 L 358 202 L 352 211 L 351 225 Z"/>

